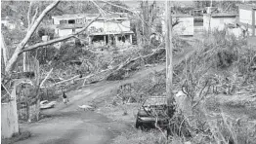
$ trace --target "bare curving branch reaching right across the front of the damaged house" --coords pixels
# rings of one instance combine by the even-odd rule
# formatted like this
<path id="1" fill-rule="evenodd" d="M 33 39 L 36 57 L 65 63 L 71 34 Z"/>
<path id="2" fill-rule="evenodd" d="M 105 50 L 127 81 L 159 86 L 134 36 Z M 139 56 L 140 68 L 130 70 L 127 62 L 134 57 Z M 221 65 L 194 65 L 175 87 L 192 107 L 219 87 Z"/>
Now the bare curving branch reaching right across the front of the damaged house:
<path id="1" fill-rule="evenodd" d="M 92 19 L 90 21 L 90 23 L 88 23 L 84 28 L 82 28 L 81 30 L 77 31 L 74 34 L 70 34 L 70 35 L 67 35 L 67 36 L 64 36 L 64 37 L 61 37 L 61 38 L 57 38 L 57 39 L 54 39 L 54 40 L 50 40 L 50 41 L 47 41 L 47 42 L 37 43 L 35 45 L 26 47 L 23 51 L 21 51 L 21 53 L 26 52 L 26 51 L 31 51 L 31 50 L 36 49 L 38 47 L 47 46 L 47 45 L 51 45 L 51 44 L 54 44 L 54 43 L 62 42 L 62 41 L 67 40 L 69 38 L 75 37 L 77 34 L 83 32 L 84 30 L 86 30 L 95 20 L 100 18 L 100 16 L 101 15 L 99 15 L 97 18 Z"/>

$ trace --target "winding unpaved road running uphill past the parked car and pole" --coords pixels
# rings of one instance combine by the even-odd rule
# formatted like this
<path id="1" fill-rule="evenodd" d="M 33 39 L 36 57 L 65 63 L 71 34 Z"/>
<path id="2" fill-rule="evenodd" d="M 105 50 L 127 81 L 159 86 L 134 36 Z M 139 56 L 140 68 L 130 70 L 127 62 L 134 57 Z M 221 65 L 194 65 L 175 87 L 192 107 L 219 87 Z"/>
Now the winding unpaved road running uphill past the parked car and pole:
<path id="1" fill-rule="evenodd" d="M 173 64 L 177 64 L 188 54 L 192 48 L 185 49 L 182 54 L 174 56 Z M 107 117 L 93 111 L 78 109 L 78 105 L 91 104 L 92 101 L 101 99 L 118 86 L 131 83 L 147 76 L 153 71 L 161 71 L 165 63 L 145 68 L 124 81 L 101 82 L 90 85 L 81 90 L 67 93 L 70 97 L 68 105 L 62 102 L 55 108 L 44 110 L 42 113 L 49 116 L 37 123 L 21 124 L 21 129 L 29 130 L 32 136 L 16 144 L 108 144 L 121 131 L 130 126 L 114 122 Z M 100 100 L 101 101 L 101 100 Z"/>

